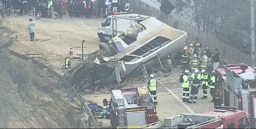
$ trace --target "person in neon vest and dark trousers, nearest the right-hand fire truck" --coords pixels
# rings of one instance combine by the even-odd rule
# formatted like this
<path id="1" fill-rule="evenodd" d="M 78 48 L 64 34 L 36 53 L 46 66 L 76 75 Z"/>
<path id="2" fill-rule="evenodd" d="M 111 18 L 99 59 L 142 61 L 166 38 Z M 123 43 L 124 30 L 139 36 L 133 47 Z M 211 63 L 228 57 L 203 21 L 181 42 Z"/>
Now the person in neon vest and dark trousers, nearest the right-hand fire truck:
<path id="1" fill-rule="evenodd" d="M 212 96 L 212 101 L 211 102 L 214 102 L 214 99 L 216 99 L 216 88 L 215 88 L 215 85 L 218 82 L 218 79 L 216 80 L 216 74 L 215 73 L 216 73 L 215 71 L 212 71 L 212 74 L 210 76 L 210 80 L 208 82 L 209 87 L 210 87 L 210 94 Z"/>

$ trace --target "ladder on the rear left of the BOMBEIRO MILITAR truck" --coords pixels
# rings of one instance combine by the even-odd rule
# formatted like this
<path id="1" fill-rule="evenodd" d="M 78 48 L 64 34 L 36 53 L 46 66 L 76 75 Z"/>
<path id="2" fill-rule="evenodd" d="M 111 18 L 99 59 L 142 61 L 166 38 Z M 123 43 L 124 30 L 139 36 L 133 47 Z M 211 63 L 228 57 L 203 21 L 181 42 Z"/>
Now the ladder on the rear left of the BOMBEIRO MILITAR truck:
<path id="1" fill-rule="evenodd" d="M 125 103 L 123 102 L 124 108 L 120 109 L 117 103 L 118 110 L 118 121 L 119 121 L 119 129 L 126 129 L 126 118 L 125 118 Z"/>

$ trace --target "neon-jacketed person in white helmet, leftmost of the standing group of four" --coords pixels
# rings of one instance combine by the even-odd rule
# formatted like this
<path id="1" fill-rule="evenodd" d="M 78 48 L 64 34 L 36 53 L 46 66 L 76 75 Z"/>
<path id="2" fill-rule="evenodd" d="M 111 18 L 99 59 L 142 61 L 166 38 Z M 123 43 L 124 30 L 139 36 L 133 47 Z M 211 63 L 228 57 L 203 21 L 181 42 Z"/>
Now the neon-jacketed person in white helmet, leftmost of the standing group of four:
<path id="1" fill-rule="evenodd" d="M 183 102 L 188 102 L 188 99 L 189 99 L 189 79 L 187 76 L 188 73 L 189 73 L 189 71 L 185 70 L 183 77 L 182 77 L 183 83 L 182 83 L 181 87 L 183 87 L 183 95 L 182 95 Z"/>

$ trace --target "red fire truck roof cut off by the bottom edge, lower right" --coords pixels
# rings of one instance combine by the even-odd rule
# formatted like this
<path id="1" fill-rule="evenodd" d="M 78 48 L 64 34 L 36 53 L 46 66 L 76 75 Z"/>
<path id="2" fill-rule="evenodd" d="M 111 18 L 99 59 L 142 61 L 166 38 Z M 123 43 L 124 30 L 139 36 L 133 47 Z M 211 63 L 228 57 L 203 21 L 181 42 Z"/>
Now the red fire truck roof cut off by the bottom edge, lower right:
<path id="1" fill-rule="evenodd" d="M 250 129 L 244 111 L 237 107 L 214 106 L 202 113 L 182 113 L 137 129 Z M 243 123 L 245 121 L 245 123 Z"/>

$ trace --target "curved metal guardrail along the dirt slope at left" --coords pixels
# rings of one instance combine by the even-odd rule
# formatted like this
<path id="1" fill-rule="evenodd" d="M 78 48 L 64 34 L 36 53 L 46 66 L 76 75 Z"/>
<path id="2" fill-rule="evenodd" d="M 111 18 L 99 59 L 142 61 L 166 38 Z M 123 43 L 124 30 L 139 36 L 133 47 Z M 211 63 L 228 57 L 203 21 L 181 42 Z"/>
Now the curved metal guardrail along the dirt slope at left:
<path id="1" fill-rule="evenodd" d="M 93 116 L 93 113 L 91 113 L 87 103 L 85 102 L 85 100 L 82 99 L 81 95 L 75 90 L 75 88 L 66 80 L 65 77 L 61 76 L 60 74 L 58 74 L 57 72 L 55 72 L 53 69 L 47 67 L 46 65 L 42 64 L 41 62 L 38 62 L 32 58 L 29 58 L 27 56 L 24 56 L 22 54 L 19 54 L 19 53 L 16 53 L 14 51 L 11 51 L 11 50 L 8 50 L 9 53 L 11 53 L 12 55 L 16 56 L 16 57 L 19 57 L 19 58 L 22 58 L 24 60 L 29 60 L 31 59 L 32 60 L 32 63 L 36 64 L 36 65 L 39 65 L 40 67 L 42 68 L 48 68 L 48 71 L 51 72 L 52 74 L 54 74 L 55 76 L 57 76 L 60 80 L 63 81 L 63 83 L 68 87 L 68 88 L 71 88 L 75 91 L 76 93 L 76 97 L 78 98 L 78 100 L 81 102 L 81 112 L 83 111 L 83 109 L 85 108 L 85 112 L 89 115 L 89 120 L 91 120 L 93 122 L 93 125 L 96 129 L 98 129 L 98 125 L 97 125 L 97 121 L 95 120 L 94 116 Z M 88 121 L 90 123 L 90 121 Z M 90 127 L 89 127 L 90 128 Z"/>

